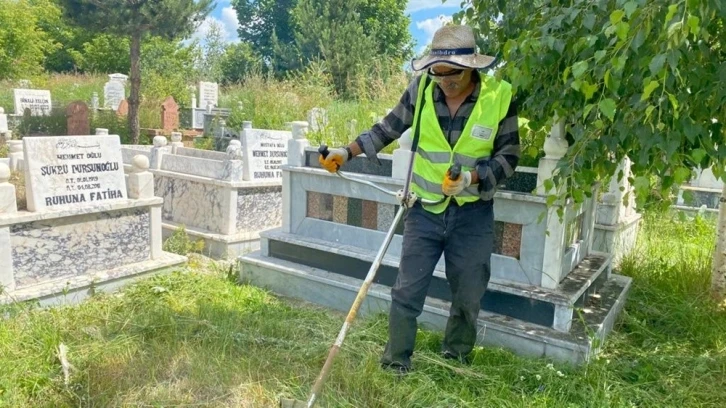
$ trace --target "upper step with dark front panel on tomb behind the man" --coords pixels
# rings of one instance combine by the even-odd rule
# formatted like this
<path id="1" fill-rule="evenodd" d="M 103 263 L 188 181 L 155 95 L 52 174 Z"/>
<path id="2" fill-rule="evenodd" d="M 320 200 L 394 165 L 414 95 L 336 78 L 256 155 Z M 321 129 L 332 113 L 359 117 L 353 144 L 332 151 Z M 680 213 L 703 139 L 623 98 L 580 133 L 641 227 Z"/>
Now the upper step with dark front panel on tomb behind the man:
<path id="1" fill-rule="evenodd" d="M 375 258 L 375 253 L 366 249 L 288 234 L 280 229 L 264 231 L 260 236 L 264 256 L 358 279 L 365 278 Z M 393 286 L 398 264 L 397 257 L 384 257 L 375 282 Z M 482 309 L 566 332 L 570 329 L 574 307 L 586 302 L 589 294 L 609 274 L 610 257 L 607 254 L 594 254 L 571 272 L 557 290 L 492 279 L 482 300 Z M 434 272 L 429 295 L 451 300 L 442 267 Z"/>

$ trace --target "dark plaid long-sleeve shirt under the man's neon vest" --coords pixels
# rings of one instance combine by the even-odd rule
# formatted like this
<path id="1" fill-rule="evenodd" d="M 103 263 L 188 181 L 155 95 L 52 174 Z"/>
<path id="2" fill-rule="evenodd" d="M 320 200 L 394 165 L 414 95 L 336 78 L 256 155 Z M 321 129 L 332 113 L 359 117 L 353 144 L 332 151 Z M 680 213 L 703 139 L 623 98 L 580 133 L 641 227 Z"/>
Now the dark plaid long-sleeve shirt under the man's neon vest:
<path id="1" fill-rule="evenodd" d="M 476 73 L 471 78 L 476 85 L 474 91 L 464 100 L 453 118 L 449 114 L 449 107 L 446 105 L 446 96 L 438 86 L 434 87 L 433 100 L 436 116 L 441 130 L 448 138 L 452 148 L 456 141 L 459 140 L 459 136 L 461 136 L 466 121 L 471 115 L 479 96 L 480 78 Z M 376 123 L 370 130 L 363 132 L 356 138 L 361 150 L 370 160 L 377 161 L 378 152 L 413 126 L 419 80 L 420 77 L 416 77 L 411 81 L 403 96 L 401 96 L 399 103 L 381 122 Z M 514 174 L 520 154 L 517 106 L 512 101 L 507 115 L 499 123 L 491 157 L 481 158 L 477 162 L 476 171 L 479 176 L 477 188 L 482 200 L 491 200 L 497 186 Z"/>

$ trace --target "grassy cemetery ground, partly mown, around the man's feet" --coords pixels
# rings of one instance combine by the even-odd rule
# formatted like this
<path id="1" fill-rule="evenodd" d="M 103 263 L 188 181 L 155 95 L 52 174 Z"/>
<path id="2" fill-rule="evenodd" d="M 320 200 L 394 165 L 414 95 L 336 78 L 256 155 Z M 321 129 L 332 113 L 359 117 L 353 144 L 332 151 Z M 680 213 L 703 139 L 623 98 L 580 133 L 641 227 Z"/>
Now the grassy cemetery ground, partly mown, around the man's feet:
<path id="1" fill-rule="evenodd" d="M 713 220 L 647 213 L 620 273 L 634 278 L 602 354 L 570 367 L 478 348 L 471 366 L 422 330 L 416 371 L 379 369 L 386 316 L 359 319 L 326 407 L 722 407 L 726 312 L 709 298 Z M 168 250 L 187 252 L 177 234 Z M 232 264 L 184 268 L 76 306 L 2 310 L 0 406 L 273 407 L 304 399 L 344 320 L 238 283 Z M 67 347 L 67 379 L 59 357 Z M 67 381 L 67 382 L 66 382 Z"/>

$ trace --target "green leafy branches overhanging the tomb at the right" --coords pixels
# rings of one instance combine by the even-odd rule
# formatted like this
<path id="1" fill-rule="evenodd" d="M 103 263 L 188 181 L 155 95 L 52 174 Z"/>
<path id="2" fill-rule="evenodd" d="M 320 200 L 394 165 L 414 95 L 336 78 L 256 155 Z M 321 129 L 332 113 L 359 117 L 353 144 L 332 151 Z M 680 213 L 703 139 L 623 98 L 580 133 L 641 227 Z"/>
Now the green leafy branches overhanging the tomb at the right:
<path id="1" fill-rule="evenodd" d="M 571 143 L 548 187 L 566 185 L 560 196 L 581 202 L 625 156 L 640 206 L 697 167 L 724 179 L 723 0 L 518 3 L 480 0 L 456 19 L 501 51 L 497 75 L 512 82 L 533 129 L 555 115 L 567 124 Z"/>

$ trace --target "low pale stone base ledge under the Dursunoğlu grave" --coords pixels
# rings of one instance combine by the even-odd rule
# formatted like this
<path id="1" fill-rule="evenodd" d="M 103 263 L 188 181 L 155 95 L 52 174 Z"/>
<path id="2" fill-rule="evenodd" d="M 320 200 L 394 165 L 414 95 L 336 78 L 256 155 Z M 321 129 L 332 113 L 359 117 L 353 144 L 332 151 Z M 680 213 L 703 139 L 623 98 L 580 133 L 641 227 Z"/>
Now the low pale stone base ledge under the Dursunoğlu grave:
<path id="1" fill-rule="evenodd" d="M 0 294 L 0 304 L 25 301 L 38 302 L 41 307 L 78 304 L 94 294 L 114 292 L 136 280 L 174 271 L 186 261 L 185 256 L 164 252 L 158 259 L 6 291 Z"/>

